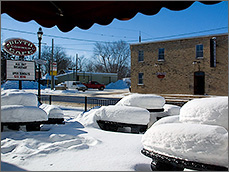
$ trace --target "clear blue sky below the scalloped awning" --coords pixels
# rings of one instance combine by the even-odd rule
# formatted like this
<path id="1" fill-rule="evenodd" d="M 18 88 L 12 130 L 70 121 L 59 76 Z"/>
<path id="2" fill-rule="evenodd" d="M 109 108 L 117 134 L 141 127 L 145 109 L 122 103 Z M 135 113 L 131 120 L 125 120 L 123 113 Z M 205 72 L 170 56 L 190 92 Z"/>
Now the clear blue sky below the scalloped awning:
<path id="1" fill-rule="evenodd" d="M 1 43 L 12 37 L 24 38 L 37 43 L 37 31 L 41 27 L 35 21 L 18 22 L 7 14 L 1 15 Z M 129 21 L 114 19 L 107 26 L 94 24 L 88 30 L 75 27 L 64 33 L 57 27 L 42 27 L 44 36 L 42 42 L 48 46 L 61 46 L 67 55 L 75 59 L 75 54 L 91 58 L 96 41 L 112 42 L 124 40 L 137 43 L 141 32 L 142 42 L 210 35 L 228 32 L 228 2 L 215 5 L 204 5 L 195 2 L 191 7 L 182 11 L 171 11 L 162 8 L 152 16 L 138 13 Z M 62 37 L 62 38 L 58 38 Z M 64 39 L 65 38 L 65 39 Z"/>

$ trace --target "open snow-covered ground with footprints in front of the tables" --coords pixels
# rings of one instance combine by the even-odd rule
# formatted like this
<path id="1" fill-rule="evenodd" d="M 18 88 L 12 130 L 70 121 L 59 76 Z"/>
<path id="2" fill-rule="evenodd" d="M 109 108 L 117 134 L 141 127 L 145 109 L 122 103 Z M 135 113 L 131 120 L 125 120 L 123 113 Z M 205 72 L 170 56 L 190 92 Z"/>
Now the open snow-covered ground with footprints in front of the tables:
<path id="1" fill-rule="evenodd" d="M 150 171 L 151 160 L 140 153 L 142 134 L 84 127 L 76 120 L 83 108 L 61 109 L 65 125 L 2 132 L 2 171 Z"/>

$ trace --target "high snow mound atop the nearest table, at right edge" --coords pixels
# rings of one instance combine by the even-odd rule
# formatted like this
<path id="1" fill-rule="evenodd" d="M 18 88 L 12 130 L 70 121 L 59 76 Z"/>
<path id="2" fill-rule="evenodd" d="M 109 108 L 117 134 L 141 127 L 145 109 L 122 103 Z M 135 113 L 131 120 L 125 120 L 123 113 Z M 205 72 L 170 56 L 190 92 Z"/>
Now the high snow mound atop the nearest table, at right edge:
<path id="1" fill-rule="evenodd" d="M 180 110 L 180 122 L 220 125 L 228 130 L 228 97 L 187 102 Z"/>

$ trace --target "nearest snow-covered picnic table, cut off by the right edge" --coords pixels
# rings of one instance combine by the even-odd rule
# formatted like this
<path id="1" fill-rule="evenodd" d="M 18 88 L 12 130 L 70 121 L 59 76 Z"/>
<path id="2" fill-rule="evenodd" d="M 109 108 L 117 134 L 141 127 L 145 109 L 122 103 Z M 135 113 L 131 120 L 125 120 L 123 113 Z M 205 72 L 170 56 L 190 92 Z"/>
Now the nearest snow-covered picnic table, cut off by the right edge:
<path id="1" fill-rule="evenodd" d="M 142 144 L 152 170 L 228 171 L 228 97 L 187 102 L 180 115 L 155 122 Z"/>

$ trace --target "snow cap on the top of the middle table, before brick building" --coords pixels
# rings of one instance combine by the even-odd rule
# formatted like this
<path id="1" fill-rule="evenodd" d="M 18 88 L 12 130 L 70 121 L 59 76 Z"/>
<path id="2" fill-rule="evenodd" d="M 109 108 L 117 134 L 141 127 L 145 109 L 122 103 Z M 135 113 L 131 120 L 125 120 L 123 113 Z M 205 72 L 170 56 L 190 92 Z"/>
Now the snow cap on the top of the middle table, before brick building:
<path id="1" fill-rule="evenodd" d="M 164 97 L 154 94 L 131 94 L 116 104 L 116 106 L 134 106 L 146 109 L 162 109 L 164 105 Z"/>

